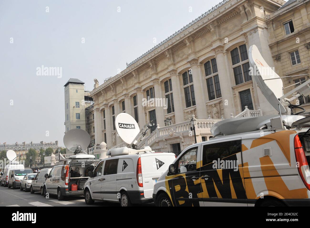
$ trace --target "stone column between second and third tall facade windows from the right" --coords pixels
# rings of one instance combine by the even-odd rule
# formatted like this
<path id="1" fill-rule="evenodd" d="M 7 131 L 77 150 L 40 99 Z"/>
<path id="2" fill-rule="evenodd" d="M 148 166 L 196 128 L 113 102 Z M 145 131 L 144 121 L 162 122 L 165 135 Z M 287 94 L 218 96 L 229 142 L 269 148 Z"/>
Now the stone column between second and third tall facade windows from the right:
<path id="1" fill-rule="evenodd" d="M 193 58 L 188 61 L 191 65 L 192 74 L 193 74 L 193 85 L 195 90 L 195 101 L 196 101 L 196 109 L 197 109 L 197 118 L 206 119 L 207 118 L 207 107 L 206 101 L 204 99 L 200 99 L 199 96 L 203 94 L 203 85 L 204 77 L 200 74 L 200 70 L 198 68 L 198 59 Z M 183 114 L 183 112 L 182 112 Z"/>

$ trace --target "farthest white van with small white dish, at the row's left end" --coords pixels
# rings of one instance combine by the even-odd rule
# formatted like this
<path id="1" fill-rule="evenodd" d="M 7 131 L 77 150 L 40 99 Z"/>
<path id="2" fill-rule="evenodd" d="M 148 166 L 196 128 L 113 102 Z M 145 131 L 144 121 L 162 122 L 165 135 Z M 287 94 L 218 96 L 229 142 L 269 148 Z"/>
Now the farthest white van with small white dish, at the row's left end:
<path id="1" fill-rule="evenodd" d="M 9 173 L 13 169 L 20 169 L 23 170 L 25 167 L 23 164 L 20 164 L 16 159 L 17 157 L 20 158 L 20 155 L 16 155 L 14 150 L 7 151 L 7 159 L 10 161 L 3 170 L 3 175 L 1 179 L 1 185 L 4 187 L 8 186 L 9 181 Z"/>

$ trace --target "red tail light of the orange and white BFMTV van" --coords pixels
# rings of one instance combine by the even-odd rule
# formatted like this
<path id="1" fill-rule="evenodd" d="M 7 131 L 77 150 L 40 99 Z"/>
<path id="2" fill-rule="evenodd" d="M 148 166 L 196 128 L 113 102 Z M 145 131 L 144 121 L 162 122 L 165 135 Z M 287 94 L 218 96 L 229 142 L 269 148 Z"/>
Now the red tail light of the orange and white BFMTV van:
<path id="1" fill-rule="evenodd" d="M 307 189 L 310 190 L 310 169 L 298 135 L 294 138 L 294 150 L 299 175 Z"/>

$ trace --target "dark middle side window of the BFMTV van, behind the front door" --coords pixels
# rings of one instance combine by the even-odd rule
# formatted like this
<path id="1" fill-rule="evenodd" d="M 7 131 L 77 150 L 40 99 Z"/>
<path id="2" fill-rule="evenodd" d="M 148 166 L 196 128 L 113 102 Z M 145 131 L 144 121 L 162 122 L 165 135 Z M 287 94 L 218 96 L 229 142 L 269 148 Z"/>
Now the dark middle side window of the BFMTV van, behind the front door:
<path id="1" fill-rule="evenodd" d="M 205 170 L 208 164 L 213 165 L 213 161 L 217 163 L 221 160 L 229 160 L 229 156 L 241 152 L 241 140 L 226 141 L 203 145 L 202 148 L 202 169 Z M 239 161 L 241 164 L 241 161 Z M 212 169 L 212 167 L 207 168 Z"/>

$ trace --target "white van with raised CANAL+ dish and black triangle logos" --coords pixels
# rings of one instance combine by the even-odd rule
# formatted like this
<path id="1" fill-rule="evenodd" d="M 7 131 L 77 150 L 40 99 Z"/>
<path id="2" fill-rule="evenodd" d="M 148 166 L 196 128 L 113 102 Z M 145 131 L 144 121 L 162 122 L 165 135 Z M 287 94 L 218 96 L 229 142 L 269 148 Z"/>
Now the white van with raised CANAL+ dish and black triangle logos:
<path id="1" fill-rule="evenodd" d="M 111 156 L 100 161 L 85 183 L 86 204 L 95 200 L 120 202 L 122 207 L 153 202 L 152 194 L 157 179 L 168 169 L 176 156 L 173 153 L 154 152 L 149 146 L 139 149 L 138 141 L 154 124 L 150 122 L 140 132 L 135 119 L 120 113 L 115 119 L 119 136 L 132 148 L 108 150 Z"/>

